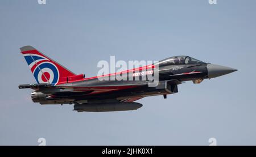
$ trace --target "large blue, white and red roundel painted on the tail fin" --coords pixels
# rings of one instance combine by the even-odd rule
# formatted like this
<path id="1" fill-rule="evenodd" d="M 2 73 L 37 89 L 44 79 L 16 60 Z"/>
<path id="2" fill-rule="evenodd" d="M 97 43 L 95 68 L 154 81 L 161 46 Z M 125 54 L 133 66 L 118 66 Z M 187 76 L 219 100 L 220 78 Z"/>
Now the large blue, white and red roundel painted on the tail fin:
<path id="1" fill-rule="evenodd" d="M 23 54 L 32 71 L 36 82 L 51 83 L 59 82 L 59 70 L 48 58 L 39 54 Z"/>

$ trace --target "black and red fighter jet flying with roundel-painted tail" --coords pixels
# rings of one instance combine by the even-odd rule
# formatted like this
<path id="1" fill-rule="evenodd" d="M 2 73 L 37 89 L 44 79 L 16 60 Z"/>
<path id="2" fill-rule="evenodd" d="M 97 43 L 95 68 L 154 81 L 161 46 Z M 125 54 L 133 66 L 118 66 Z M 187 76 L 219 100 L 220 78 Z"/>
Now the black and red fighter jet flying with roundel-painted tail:
<path id="1" fill-rule="evenodd" d="M 31 88 L 31 99 L 40 104 L 75 104 L 77 112 L 130 111 L 142 107 L 134 101 L 147 96 L 167 95 L 178 92 L 177 85 L 185 81 L 201 83 L 204 79 L 216 78 L 237 71 L 236 69 L 205 63 L 189 56 L 166 58 L 151 65 L 126 71 L 133 80 L 111 80 L 120 73 L 85 78 L 76 75 L 32 46 L 20 48 L 36 84 L 22 84 L 20 89 Z M 156 68 L 157 67 L 157 68 Z M 142 79 L 147 74 L 158 74 L 156 86 L 152 80 Z M 106 78 L 106 79 L 102 79 Z"/>

